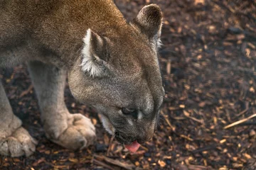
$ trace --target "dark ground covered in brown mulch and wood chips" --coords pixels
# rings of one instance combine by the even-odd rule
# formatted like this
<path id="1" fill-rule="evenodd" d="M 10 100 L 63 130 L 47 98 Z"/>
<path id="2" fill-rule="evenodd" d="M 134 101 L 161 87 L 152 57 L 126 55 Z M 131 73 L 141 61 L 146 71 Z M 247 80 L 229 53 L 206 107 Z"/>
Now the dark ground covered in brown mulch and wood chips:
<path id="1" fill-rule="evenodd" d="M 130 154 L 102 129 L 97 112 L 76 103 L 67 88 L 70 112 L 92 118 L 97 143 L 70 152 L 49 142 L 31 79 L 18 66 L 4 70 L 4 85 L 14 113 L 39 144 L 31 157 L 0 157 L 0 169 L 256 169 L 256 2 L 115 2 L 128 19 L 151 3 L 164 13 L 160 62 L 166 98 L 153 139 Z"/>

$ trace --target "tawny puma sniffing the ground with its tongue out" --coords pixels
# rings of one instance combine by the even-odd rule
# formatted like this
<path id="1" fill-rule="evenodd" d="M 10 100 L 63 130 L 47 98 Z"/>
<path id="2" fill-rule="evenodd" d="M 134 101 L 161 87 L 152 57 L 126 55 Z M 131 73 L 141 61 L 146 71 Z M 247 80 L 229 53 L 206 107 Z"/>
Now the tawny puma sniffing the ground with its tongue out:
<path id="1" fill-rule="evenodd" d="M 164 96 L 159 6 L 127 22 L 111 0 L 0 0 L 0 20 L 0 67 L 28 63 L 49 140 L 83 149 L 96 137 L 90 119 L 65 106 L 67 73 L 73 96 L 97 108 L 117 141 L 136 151 L 151 139 Z M 21 124 L 0 84 L 1 155 L 35 151 Z"/>

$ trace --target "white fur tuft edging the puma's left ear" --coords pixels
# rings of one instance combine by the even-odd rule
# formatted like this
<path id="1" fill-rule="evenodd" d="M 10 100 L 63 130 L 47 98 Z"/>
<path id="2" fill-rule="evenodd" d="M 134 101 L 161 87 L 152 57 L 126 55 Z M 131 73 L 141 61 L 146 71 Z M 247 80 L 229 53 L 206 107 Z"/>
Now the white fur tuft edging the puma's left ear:
<path id="1" fill-rule="evenodd" d="M 82 71 L 88 72 L 91 77 L 100 77 L 102 75 L 102 68 L 95 63 L 94 57 L 97 56 L 92 54 L 91 38 L 92 30 L 88 29 L 85 38 L 82 39 L 85 42 L 85 46 L 82 48 Z"/>

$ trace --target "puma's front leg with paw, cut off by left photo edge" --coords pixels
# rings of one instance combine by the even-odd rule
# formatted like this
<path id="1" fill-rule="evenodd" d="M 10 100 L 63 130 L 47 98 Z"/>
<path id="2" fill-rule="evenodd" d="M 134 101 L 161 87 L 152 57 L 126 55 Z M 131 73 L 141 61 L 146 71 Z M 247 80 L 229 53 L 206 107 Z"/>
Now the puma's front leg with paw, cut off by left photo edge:
<path id="1" fill-rule="evenodd" d="M 36 140 L 21 127 L 14 115 L 0 79 L 0 155 L 30 156 L 36 150 Z"/>

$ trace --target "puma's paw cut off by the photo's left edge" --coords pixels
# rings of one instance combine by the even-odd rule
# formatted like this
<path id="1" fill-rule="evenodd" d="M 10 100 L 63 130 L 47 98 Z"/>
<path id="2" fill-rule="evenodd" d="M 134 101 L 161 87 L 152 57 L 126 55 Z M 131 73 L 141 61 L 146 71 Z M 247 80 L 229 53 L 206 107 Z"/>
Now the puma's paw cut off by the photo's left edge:
<path id="1" fill-rule="evenodd" d="M 11 157 L 23 155 L 28 157 L 35 152 L 37 143 L 27 130 L 18 128 L 11 136 L 0 140 L 0 154 Z"/>

